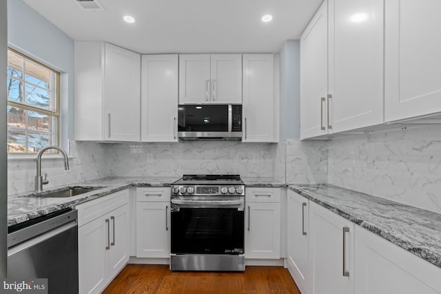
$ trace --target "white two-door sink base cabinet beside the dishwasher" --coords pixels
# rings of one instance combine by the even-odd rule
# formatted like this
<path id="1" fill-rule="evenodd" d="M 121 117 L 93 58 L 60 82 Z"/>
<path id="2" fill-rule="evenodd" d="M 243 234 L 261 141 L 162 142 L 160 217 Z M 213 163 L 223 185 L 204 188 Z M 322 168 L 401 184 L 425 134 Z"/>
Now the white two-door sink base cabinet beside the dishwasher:
<path id="1" fill-rule="evenodd" d="M 79 214 L 79 293 L 101 293 L 129 260 L 128 190 L 85 202 Z"/>

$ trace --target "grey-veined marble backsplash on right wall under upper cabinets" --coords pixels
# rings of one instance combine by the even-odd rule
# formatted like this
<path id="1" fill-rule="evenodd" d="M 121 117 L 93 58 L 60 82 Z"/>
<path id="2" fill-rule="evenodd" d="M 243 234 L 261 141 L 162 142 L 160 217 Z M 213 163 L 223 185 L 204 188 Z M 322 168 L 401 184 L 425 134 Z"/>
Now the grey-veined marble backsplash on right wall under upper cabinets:
<path id="1" fill-rule="evenodd" d="M 329 141 L 328 182 L 441 213 L 441 127 Z"/>

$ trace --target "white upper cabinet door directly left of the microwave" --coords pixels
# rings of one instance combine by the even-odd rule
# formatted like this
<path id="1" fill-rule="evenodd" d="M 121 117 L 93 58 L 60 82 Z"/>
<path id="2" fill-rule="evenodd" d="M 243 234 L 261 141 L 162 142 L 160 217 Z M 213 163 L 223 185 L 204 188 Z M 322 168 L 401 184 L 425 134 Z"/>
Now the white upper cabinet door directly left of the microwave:
<path id="1" fill-rule="evenodd" d="M 141 140 L 177 142 L 178 55 L 143 55 Z"/>

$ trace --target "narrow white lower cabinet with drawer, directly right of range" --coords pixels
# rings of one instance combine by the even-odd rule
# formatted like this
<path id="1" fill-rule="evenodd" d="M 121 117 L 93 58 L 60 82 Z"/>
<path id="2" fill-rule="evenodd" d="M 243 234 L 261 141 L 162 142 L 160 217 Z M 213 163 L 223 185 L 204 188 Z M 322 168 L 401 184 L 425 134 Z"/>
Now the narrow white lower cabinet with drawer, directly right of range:
<path id="1" fill-rule="evenodd" d="M 280 258 L 280 188 L 245 189 L 245 258 Z"/>

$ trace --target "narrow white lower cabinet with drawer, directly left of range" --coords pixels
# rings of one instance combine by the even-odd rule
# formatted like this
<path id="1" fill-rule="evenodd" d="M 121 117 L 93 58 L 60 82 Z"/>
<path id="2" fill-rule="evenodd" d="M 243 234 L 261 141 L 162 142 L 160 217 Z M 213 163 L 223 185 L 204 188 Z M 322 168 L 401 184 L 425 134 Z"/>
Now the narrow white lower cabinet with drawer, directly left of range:
<path id="1" fill-rule="evenodd" d="M 170 188 L 136 189 L 136 257 L 170 258 Z"/>

